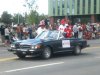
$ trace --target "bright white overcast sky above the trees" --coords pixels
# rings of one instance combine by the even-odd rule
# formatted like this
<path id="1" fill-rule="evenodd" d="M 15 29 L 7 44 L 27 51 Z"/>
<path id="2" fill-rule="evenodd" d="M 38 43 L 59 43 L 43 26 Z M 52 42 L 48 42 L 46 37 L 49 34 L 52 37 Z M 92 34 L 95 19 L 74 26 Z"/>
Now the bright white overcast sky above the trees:
<path id="1" fill-rule="evenodd" d="M 40 14 L 48 14 L 48 0 L 36 0 L 38 5 L 38 12 Z M 23 5 L 25 0 L 0 0 L 0 15 L 3 11 L 7 11 L 9 14 L 25 13 L 27 10 Z"/>

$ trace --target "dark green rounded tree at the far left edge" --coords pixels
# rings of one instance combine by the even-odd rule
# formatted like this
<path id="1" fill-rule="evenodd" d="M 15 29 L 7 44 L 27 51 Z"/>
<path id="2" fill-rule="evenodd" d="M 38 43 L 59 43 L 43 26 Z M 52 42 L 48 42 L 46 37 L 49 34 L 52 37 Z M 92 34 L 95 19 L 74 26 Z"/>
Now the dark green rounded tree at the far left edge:
<path id="1" fill-rule="evenodd" d="M 11 24 L 12 23 L 12 15 L 8 14 L 7 11 L 4 11 L 3 14 L 1 15 L 1 22 L 5 24 Z"/>

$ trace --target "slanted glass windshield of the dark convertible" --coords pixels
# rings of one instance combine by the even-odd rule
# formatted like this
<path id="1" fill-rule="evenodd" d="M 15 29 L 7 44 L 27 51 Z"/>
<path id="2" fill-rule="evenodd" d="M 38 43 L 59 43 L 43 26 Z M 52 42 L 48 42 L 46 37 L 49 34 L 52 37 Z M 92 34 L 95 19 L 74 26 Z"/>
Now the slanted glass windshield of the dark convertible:
<path id="1" fill-rule="evenodd" d="M 59 32 L 58 31 L 44 31 L 40 35 L 37 35 L 36 38 L 39 39 L 57 39 Z"/>

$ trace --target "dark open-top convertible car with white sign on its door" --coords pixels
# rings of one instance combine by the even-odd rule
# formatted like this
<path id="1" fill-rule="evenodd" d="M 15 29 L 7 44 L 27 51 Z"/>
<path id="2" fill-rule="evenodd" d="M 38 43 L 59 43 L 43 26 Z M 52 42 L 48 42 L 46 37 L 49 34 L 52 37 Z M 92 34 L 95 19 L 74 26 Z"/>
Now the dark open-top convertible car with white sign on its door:
<path id="1" fill-rule="evenodd" d="M 8 51 L 19 58 L 39 55 L 44 59 L 50 58 L 55 53 L 71 52 L 79 55 L 83 48 L 88 47 L 87 41 L 78 38 L 65 38 L 57 30 L 48 30 L 37 35 L 34 39 L 18 40 L 11 44 Z"/>

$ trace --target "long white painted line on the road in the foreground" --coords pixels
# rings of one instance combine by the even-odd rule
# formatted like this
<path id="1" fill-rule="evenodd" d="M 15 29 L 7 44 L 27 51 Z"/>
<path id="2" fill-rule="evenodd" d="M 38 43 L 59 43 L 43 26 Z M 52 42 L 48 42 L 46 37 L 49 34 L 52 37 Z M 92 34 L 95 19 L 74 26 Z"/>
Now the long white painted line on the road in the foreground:
<path id="1" fill-rule="evenodd" d="M 33 68 L 41 68 L 41 67 L 46 67 L 46 66 L 59 65 L 59 64 L 63 64 L 63 63 L 64 62 L 50 63 L 50 64 L 44 64 L 44 65 L 37 65 L 37 66 L 32 66 L 32 67 L 26 67 L 26 68 L 8 70 L 8 71 L 4 71 L 3 73 L 5 73 L 5 72 L 6 73 L 10 73 L 10 72 L 22 71 L 22 70 L 33 69 Z"/>

